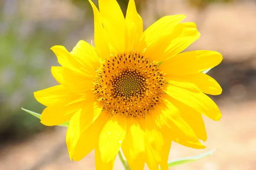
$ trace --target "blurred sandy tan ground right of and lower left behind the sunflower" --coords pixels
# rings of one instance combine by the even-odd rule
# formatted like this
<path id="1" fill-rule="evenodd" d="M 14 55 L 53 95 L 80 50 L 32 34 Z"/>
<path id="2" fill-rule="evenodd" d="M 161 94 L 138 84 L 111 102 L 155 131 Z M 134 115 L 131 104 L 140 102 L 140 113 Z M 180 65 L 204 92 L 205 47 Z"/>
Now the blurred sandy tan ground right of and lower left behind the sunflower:
<path id="1" fill-rule="evenodd" d="M 165 5 L 161 3 L 165 1 Z M 157 1 L 160 16 L 184 13 L 186 21 L 197 22 L 198 12 L 183 1 Z M 172 1 L 173 2 L 173 1 Z M 174 7 L 175 6 L 175 7 Z M 152 23 L 147 4 L 142 16 Z M 162 7 L 162 8 L 161 8 Z M 148 15 L 148 16 L 146 16 Z M 193 156 L 216 148 L 213 156 L 180 165 L 173 170 L 255 170 L 256 169 L 256 5 L 234 3 L 211 5 L 198 20 L 201 39 L 189 50 L 209 49 L 224 54 L 224 62 L 209 72 L 223 86 L 220 97 L 213 98 L 223 118 L 215 122 L 205 118 L 207 149 L 195 150 L 172 144 L 169 159 Z M 65 145 L 66 128 L 39 133 L 21 142 L 0 146 L 0 170 L 93 170 L 94 153 L 82 161 L 70 161 Z M 115 170 L 121 170 L 118 158 Z M 146 169 L 146 167 L 145 167 Z"/>

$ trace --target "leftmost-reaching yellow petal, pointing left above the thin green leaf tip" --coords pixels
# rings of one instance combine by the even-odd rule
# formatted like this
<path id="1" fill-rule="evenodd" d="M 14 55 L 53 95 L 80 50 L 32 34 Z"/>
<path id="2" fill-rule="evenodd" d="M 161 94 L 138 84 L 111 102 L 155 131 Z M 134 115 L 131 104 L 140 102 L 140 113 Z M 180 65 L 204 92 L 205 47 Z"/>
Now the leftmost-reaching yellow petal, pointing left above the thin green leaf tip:
<path id="1" fill-rule="evenodd" d="M 72 101 L 72 93 L 67 90 L 62 85 L 52 86 L 47 89 L 39 90 L 37 92 L 34 92 L 35 99 L 41 103 L 44 104 L 44 106 L 52 106 L 58 103 L 61 99 L 64 98 L 67 101 Z"/>

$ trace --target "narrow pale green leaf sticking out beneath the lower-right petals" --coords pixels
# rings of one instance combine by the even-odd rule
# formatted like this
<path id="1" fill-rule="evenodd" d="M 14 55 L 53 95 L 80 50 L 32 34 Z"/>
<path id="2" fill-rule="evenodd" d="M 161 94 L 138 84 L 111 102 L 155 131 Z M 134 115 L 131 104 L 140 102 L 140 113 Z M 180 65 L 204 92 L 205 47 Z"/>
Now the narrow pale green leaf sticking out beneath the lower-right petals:
<path id="1" fill-rule="evenodd" d="M 177 166 L 177 165 L 180 165 L 180 164 L 185 164 L 185 163 L 188 163 L 188 162 L 197 161 L 198 159 L 205 158 L 207 156 L 212 155 L 214 151 L 215 151 L 215 149 L 212 149 L 209 152 L 203 153 L 203 154 L 198 155 L 198 156 L 191 156 L 191 157 L 185 157 L 185 158 L 170 160 L 170 161 L 168 161 L 168 166 L 169 167 L 174 167 L 174 166 Z"/>

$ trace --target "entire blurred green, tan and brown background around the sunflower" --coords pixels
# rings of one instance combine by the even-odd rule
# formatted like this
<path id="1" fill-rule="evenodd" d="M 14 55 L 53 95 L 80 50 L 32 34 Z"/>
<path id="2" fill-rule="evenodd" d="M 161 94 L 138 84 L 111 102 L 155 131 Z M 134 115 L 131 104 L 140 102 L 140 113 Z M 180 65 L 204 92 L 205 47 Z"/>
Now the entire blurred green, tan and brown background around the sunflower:
<path id="1" fill-rule="evenodd" d="M 93 0 L 97 4 L 97 0 Z M 125 13 L 128 0 L 118 0 Z M 216 147 L 213 156 L 173 170 L 256 169 L 256 0 L 135 0 L 144 28 L 160 17 L 186 14 L 201 38 L 188 49 L 221 52 L 209 72 L 223 88 L 212 96 L 223 118 L 204 118 L 207 148 L 172 144 L 169 159 Z M 45 127 L 20 108 L 41 112 L 33 92 L 56 85 L 58 65 L 50 47 L 68 50 L 93 40 L 93 12 L 87 0 L 0 0 L 0 170 L 93 170 L 94 153 L 70 161 L 65 127 Z M 115 170 L 122 169 L 117 158 Z M 145 167 L 145 169 L 147 169 Z"/>

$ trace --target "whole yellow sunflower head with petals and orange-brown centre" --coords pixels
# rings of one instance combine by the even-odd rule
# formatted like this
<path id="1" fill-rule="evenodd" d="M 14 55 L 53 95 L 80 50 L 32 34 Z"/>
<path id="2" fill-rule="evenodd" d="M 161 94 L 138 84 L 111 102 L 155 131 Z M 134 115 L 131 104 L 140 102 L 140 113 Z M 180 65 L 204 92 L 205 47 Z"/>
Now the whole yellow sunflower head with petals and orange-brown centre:
<path id="1" fill-rule="evenodd" d="M 95 149 L 97 170 L 113 169 L 120 147 L 131 170 L 167 170 L 171 142 L 205 148 L 201 114 L 218 121 L 221 112 L 204 93 L 221 87 L 202 71 L 218 65 L 214 51 L 182 52 L 200 36 L 185 15 L 162 17 L 143 32 L 134 0 L 126 17 L 116 0 L 99 0 L 94 43 L 80 40 L 72 52 L 53 46 L 61 66 L 52 67 L 60 85 L 35 92 L 47 106 L 41 122 L 70 121 L 67 148 L 75 161 Z M 100 12 L 99 12 L 100 11 Z"/>

